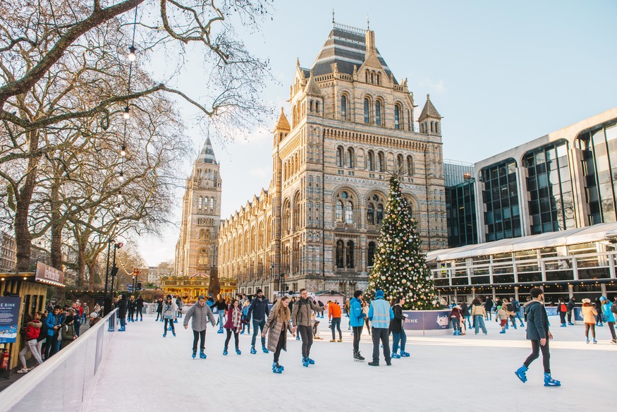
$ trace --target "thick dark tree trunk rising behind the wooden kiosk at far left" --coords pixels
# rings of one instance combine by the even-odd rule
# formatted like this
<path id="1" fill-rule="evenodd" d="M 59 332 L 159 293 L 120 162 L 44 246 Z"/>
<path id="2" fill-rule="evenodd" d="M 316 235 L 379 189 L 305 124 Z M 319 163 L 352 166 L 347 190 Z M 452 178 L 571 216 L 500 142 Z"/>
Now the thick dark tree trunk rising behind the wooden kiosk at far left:
<path id="1" fill-rule="evenodd" d="M 35 152 L 39 147 L 39 135 L 36 131 L 29 133 L 30 145 L 28 150 Z M 15 241 L 17 251 L 17 270 L 18 272 L 28 272 L 30 270 L 30 253 L 32 250 L 32 235 L 28 226 L 28 214 L 30 211 L 30 202 L 32 202 L 32 193 L 34 193 L 37 182 L 37 171 L 39 167 L 39 159 L 41 157 L 31 157 L 28 160 L 28 174 L 25 177 L 23 186 L 19 190 L 15 190 Z"/>

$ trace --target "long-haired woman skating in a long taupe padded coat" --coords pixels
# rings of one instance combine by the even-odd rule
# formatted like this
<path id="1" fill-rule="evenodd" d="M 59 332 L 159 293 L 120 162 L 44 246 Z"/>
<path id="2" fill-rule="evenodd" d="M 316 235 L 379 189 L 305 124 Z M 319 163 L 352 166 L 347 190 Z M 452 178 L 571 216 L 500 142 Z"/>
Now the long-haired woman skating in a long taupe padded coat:
<path id="1" fill-rule="evenodd" d="M 274 352 L 274 362 L 272 363 L 272 372 L 274 373 L 283 373 L 285 369 L 279 364 L 279 357 L 281 349 L 287 351 L 287 331 L 295 336 L 293 327 L 289 323 L 291 313 L 289 313 L 288 306 L 289 296 L 281 296 L 276 305 L 272 307 L 262 331 L 262 338 L 265 339 L 266 334 L 268 334 L 268 349 Z"/>

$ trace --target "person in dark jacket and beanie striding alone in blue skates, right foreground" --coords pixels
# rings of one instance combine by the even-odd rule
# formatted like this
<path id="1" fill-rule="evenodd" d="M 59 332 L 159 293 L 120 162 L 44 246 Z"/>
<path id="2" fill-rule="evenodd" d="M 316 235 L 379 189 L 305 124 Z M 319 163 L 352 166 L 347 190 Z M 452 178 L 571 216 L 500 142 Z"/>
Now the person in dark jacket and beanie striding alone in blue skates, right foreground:
<path id="1" fill-rule="evenodd" d="M 525 313 L 527 313 L 527 339 L 531 341 L 532 353 L 514 373 L 521 382 L 527 382 L 527 369 L 539 357 L 539 351 L 542 350 L 544 386 L 558 387 L 561 386 L 561 382 L 551 377 L 549 340 L 553 339 L 553 334 L 549 331 L 549 317 L 544 308 L 544 291 L 540 288 L 532 288 L 530 294 L 532 301 L 525 304 Z"/>

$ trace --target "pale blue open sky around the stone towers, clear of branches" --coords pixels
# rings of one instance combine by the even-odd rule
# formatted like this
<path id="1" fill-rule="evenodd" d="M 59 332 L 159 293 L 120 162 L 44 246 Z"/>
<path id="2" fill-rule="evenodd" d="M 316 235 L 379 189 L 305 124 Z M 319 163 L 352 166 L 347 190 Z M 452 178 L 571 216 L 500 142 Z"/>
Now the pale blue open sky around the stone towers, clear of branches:
<path id="1" fill-rule="evenodd" d="M 381 56 L 396 78 L 408 78 L 416 117 L 431 95 L 444 116 L 444 159 L 474 163 L 617 106 L 614 0 L 275 0 L 272 19 L 243 39 L 270 61 L 274 81 L 264 99 L 274 108 L 271 119 L 248 138 L 213 142 L 223 180 L 221 218 L 269 186 L 270 131 L 281 107 L 290 112 L 295 61 L 312 66 L 333 7 L 336 23 L 365 29 L 368 16 Z M 195 70 L 190 57 L 188 69 Z M 205 135 L 191 124 L 193 109 L 183 110 L 196 155 Z M 182 195 L 178 190 L 173 205 L 178 221 Z M 136 239 L 149 266 L 173 260 L 179 227 Z"/>

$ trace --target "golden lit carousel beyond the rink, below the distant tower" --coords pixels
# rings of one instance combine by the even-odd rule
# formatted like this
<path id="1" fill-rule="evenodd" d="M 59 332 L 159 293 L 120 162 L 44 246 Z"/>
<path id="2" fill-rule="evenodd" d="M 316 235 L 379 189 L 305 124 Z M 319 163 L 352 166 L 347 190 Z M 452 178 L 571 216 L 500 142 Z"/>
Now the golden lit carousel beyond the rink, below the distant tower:
<path id="1" fill-rule="evenodd" d="M 216 269 L 214 269 L 216 273 Z M 216 274 L 214 274 L 216 276 Z M 161 277 L 161 289 L 165 293 L 173 294 L 173 296 L 181 296 L 186 303 L 197 301 L 197 296 L 208 296 L 209 285 L 211 284 L 210 275 L 204 272 L 196 272 L 189 276 L 165 276 Z M 236 279 L 220 278 L 219 293 L 231 294 L 236 291 Z M 216 294 L 216 293 L 214 293 Z M 213 296 L 216 298 L 216 296 Z"/>

